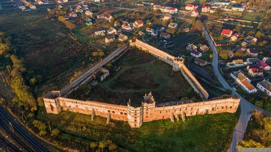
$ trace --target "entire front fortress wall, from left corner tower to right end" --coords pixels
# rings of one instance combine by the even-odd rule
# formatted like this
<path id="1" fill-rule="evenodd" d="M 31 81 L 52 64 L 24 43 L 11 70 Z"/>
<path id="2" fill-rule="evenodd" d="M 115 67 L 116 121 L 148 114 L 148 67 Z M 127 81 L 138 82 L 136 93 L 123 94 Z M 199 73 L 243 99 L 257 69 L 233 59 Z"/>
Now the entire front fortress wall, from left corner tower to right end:
<path id="1" fill-rule="evenodd" d="M 140 127 L 143 122 L 171 119 L 177 120 L 181 115 L 184 120 L 188 116 L 205 115 L 229 112 L 237 110 L 240 98 L 227 96 L 226 98 L 213 98 L 202 102 L 192 100 L 172 101 L 156 104 L 151 92 L 145 94 L 141 106 L 134 107 L 129 100 L 127 106 L 108 104 L 95 101 L 82 101 L 62 97 L 60 91 L 50 91 L 43 98 L 47 113 L 58 114 L 62 110 L 107 118 L 110 113 L 111 119 L 126 121 L 131 127 Z M 90 117 L 91 119 L 91 117 Z M 174 119 L 174 118 L 173 118 Z"/>

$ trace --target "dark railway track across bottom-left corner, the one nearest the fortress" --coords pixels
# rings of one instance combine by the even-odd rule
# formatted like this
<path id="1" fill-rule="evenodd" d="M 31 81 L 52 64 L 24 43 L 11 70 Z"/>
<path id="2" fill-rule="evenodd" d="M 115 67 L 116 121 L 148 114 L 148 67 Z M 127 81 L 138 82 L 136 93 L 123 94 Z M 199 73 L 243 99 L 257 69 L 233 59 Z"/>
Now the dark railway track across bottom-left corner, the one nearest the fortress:
<path id="1" fill-rule="evenodd" d="M 6 120 L 7 122 L 11 122 L 14 130 L 19 133 L 26 141 L 28 141 L 29 144 L 31 144 L 34 149 L 37 152 L 48 152 L 45 148 L 43 148 L 43 146 L 41 146 L 38 142 L 35 141 L 35 139 L 33 137 L 31 137 L 25 130 L 24 128 L 22 128 L 21 126 L 19 126 L 15 121 L 13 121 L 6 113 L 5 111 L 2 109 L 2 107 L 0 107 L 0 115 L 4 118 L 4 120 Z M 27 150 L 29 151 L 29 150 Z"/>

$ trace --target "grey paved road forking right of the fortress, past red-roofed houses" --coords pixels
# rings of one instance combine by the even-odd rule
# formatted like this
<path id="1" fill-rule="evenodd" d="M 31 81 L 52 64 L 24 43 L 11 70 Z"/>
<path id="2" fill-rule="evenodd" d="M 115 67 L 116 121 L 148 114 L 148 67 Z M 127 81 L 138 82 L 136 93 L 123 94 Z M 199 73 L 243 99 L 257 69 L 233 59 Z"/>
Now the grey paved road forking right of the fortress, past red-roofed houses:
<path id="1" fill-rule="evenodd" d="M 246 131 L 246 126 L 247 126 L 247 122 L 249 121 L 250 117 L 251 117 L 251 110 L 252 109 L 256 109 L 256 110 L 261 110 L 263 111 L 265 114 L 271 116 L 270 112 L 267 112 L 255 105 L 253 105 L 252 103 L 250 103 L 249 101 L 245 100 L 244 98 L 242 98 L 236 91 L 234 91 L 230 85 L 228 84 L 228 82 L 224 79 L 223 75 L 219 72 L 219 67 L 218 67 L 218 53 L 217 50 L 215 48 L 215 45 L 213 44 L 208 32 L 204 29 L 203 30 L 205 37 L 208 40 L 208 43 L 210 45 L 210 47 L 213 50 L 213 61 L 212 61 L 212 66 L 213 66 L 213 71 L 214 74 L 216 75 L 217 79 L 220 81 L 220 83 L 222 84 L 222 86 L 225 89 L 230 89 L 233 91 L 232 94 L 237 95 L 241 98 L 240 101 L 240 106 L 241 106 L 241 114 L 239 117 L 239 120 L 237 122 L 237 125 L 234 129 L 234 133 L 233 133 L 233 140 L 231 143 L 231 147 L 229 148 L 228 152 L 237 152 L 237 142 L 241 141 L 244 138 L 244 133 Z"/>

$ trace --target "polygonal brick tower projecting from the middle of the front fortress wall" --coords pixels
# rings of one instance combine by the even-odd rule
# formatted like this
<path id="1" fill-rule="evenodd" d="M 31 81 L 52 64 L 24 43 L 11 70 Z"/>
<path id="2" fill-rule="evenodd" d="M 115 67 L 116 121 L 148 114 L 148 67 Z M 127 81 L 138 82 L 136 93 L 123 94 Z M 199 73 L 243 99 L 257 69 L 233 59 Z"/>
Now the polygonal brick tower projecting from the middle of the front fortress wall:
<path id="1" fill-rule="evenodd" d="M 143 109 L 142 106 L 134 107 L 131 106 L 131 100 L 129 99 L 127 108 L 127 119 L 128 123 L 132 128 L 139 128 L 143 122 Z"/>

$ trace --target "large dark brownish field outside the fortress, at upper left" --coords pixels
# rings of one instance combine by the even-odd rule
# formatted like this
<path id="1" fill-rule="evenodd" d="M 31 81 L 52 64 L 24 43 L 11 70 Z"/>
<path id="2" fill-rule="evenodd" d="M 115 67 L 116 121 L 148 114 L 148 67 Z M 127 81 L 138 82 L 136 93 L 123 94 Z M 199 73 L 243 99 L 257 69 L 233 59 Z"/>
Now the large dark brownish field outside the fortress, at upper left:
<path id="1" fill-rule="evenodd" d="M 0 31 L 11 36 L 16 55 L 24 58 L 30 71 L 28 80 L 37 79 L 37 95 L 62 88 L 74 71 L 86 68 L 93 50 L 85 42 L 74 40 L 76 36 L 64 24 L 46 19 L 45 14 L 31 11 L 0 15 Z"/>

